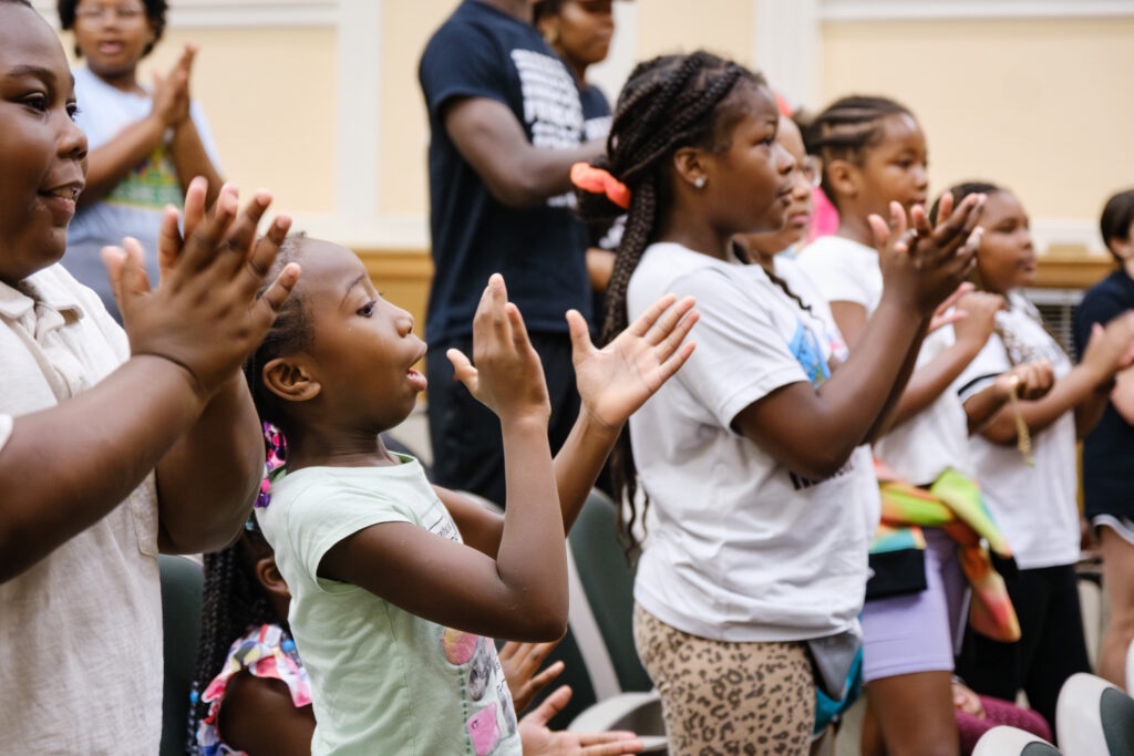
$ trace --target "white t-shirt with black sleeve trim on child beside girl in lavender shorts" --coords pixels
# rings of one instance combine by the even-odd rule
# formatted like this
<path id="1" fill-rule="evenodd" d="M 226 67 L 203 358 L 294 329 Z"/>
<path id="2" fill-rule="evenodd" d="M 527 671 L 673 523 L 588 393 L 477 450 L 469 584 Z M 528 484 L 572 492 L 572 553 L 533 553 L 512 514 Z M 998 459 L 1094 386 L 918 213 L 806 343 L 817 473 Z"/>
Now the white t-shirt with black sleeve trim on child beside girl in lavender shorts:
<path id="1" fill-rule="evenodd" d="M 993 333 L 957 379 L 963 400 L 1022 362 L 1050 359 L 1057 380 L 1070 372 L 1070 359 L 1044 330 L 1039 311 L 1016 292 L 1008 301 L 1010 309 L 997 313 L 997 330 L 1015 337 L 1017 354 L 1009 358 L 1004 340 Z M 1080 557 L 1074 410 L 1031 435 L 1033 467 L 1024 464 L 1016 444 L 970 436 L 976 477 L 1022 569 L 1074 564 Z"/>

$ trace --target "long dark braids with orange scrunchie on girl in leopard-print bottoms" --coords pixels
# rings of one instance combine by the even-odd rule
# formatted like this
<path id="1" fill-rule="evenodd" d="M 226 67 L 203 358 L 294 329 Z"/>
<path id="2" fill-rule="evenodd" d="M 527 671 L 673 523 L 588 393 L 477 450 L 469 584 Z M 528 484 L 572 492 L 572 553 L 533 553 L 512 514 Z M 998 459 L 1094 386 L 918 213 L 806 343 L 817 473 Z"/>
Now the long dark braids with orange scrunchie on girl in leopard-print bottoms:
<path id="1" fill-rule="evenodd" d="M 667 170 L 670 158 L 686 146 L 714 153 L 728 148 L 730 127 L 743 114 L 741 103 L 729 95 L 741 82 L 764 84 L 759 74 L 699 51 L 638 63 L 619 94 L 607 153 L 592 163 L 631 190 L 626 230 L 607 288 L 602 343 L 609 343 L 628 324 L 626 288 L 655 237 L 659 219 L 666 216 L 672 202 Z M 578 201 L 578 213 L 587 222 L 612 221 L 627 212 L 600 194 L 579 190 Z M 633 554 L 638 545 L 634 527 L 644 518 L 649 498 L 643 496 L 640 513 L 637 470 L 626 428 L 615 444 L 610 473 L 615 491 L 628 503 L 628 516 L 619 508 L 619 528 L 627 553 Z"/>

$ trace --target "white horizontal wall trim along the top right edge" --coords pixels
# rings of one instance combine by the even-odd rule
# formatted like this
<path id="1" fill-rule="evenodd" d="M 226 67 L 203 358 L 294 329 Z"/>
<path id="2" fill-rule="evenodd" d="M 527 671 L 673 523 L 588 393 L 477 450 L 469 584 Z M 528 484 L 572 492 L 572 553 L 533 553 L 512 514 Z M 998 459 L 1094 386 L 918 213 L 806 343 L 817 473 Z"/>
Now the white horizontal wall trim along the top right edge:
<path id="1" fill-rule="evenodd" d="M 765 0 L 773 5 L 777 0 Z M 1097 18 L 1134 16 L 1131 0 L 822 0 L 822 20 Z"/>

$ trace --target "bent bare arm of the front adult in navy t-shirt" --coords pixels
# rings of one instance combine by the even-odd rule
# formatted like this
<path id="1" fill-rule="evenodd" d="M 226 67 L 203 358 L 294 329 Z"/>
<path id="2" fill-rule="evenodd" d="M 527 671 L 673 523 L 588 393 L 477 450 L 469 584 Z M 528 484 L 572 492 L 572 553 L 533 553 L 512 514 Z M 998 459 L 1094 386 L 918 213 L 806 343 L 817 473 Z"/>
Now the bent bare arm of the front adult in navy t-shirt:
<path id="1" fill-rule="evenodd" d="M 570 167 L 594 160 L 606 148 L 601 139 L 574 150 L 536 147 L 508 107 L 486 97 L 466 97 L 449 104 L 445 129 L 492 196 L 516 209 L 532 207 L 569 192 Z"/>

